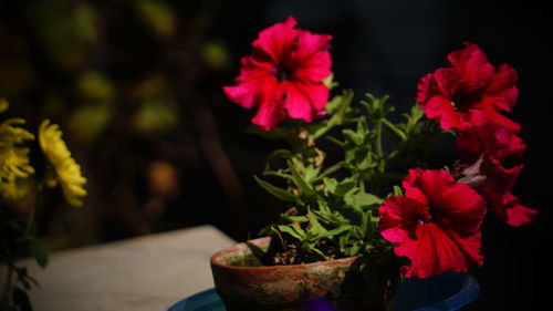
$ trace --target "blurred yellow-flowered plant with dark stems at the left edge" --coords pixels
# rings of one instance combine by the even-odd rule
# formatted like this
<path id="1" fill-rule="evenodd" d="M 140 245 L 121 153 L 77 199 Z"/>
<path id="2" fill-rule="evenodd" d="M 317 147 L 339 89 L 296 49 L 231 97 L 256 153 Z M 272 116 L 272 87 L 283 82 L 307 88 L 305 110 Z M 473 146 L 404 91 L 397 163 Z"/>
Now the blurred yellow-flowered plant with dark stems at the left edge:
<path id="1" fill-rule="evenodd" d="M 25 120 L 4 117 L 8 108 L 8 101 L 0 97 L 0 272 L 6 272 L 0 273 L 0 310 L 23 311 L 33 310 L 28 292 L 38 282 L 19 259 L 32 257 L 41 268 L 48 265 L 35 221 L 46 189 L 60 186 L 67 204 L 81 207 L 86 178 L 62 139 L 60 126 L 50 120 L 42 121 L 36 133 L 43 158 L 36 165 L 29 148 L 35 136 L 23 127 Z"/>

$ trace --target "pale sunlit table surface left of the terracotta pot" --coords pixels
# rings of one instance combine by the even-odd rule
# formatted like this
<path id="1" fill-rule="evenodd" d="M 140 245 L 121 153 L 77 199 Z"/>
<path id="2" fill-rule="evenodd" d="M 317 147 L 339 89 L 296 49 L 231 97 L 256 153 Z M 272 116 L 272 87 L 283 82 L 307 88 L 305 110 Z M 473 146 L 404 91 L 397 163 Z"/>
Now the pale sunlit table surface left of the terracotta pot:
<path id="1" fill-rule="evenodd" d="M 36 311 L 164 311 L 212 288 L 209 258 L 233 242 L 200 226 L 53 252 L 44 270 L 21 263 L 40 283 L 31 291 Z"/>

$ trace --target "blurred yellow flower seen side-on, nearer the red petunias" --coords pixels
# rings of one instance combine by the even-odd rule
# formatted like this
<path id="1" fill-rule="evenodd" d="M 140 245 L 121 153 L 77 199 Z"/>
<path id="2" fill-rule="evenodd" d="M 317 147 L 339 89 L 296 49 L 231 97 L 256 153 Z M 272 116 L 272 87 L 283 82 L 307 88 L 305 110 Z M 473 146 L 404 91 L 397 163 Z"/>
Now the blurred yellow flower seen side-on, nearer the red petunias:
<path id="1" fill-rule="evenodd" d="M 65 199 L 72 206 L 82 206 L 86 190 L 86 178 L 81 175 L 81 166 L 71 157 L 67 146 L 62 141 L 58 124 L 44 120 L 39 128 L 39 143 L 52 166 L 46 173 L 46 186 L 55 187 L 60 183 Z"/>

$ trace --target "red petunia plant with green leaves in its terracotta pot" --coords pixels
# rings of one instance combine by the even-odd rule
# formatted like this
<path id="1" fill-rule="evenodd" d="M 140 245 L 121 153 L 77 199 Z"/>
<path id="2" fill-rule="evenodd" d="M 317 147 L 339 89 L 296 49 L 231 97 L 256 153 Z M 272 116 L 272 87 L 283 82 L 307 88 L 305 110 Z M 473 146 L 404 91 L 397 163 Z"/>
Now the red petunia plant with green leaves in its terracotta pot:
<path id="1" fill-rule="evenodd" d="M 262 30 L 237 84 L 223 87 L 230 101 L 257 107 L 251 132 L 289 146 L 254 177 L 286 209 L 265 238 L 211 258 L 227 310 L 301 310 L 316 298 L 387 310 L 403 278 L 481 266 L 488 209 L 511 226 L 532 221 L 536 210 L 511 193 L 522 164 L 505 167 L 525 149 L 520 124 L 504 114 L 518 95 L 512 68 L 465 43 L 450 66 L 420 80 L 397 122 L 387 96 L 331 96 L 332 37 L 295 25 L 290 17 Z M 459 160 L 428 167 L 442 135 L 455 137 Z"/>

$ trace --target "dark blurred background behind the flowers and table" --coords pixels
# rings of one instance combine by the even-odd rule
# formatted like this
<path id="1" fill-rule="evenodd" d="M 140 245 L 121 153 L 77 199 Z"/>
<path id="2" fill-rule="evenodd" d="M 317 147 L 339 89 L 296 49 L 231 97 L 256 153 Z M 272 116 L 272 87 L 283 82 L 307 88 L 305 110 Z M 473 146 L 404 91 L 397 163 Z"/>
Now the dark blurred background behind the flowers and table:
<path id="1" fill-rule="evenodd" d="M 525 167 L 513 194 L 540 210 L 531 226 L 487 217 L 481 293 L 467 310 L 531 310 L 546 302 L 552 222 L 551 32 L 531 1 L 12 1 L 0 7 L 0 95 L 35 129 L 64 128 L 88 178 L 83 209 L 60 195 L 39 210 L 50 250 L 212 224 L 237 240 L 281 210 L 253 183 L 280 146 L 246 134 L 253 111 L 228 102 L 260 30 L 294 15 L 334 37 L 335 80 L 392 95 L 405 112 L 418 80 L 465 41 L 519 72 L 509 114 L 522 124 Z M 451 142 L 446 142 L 446 144 Z M 439 167 L 453 148 L 436 149 Z M 441 163 L 438 163 L 441 162 Z M 25 214 L 25 203 L 20 212 Z M 546 305 L 546 304 L 545 304 Z"/>

